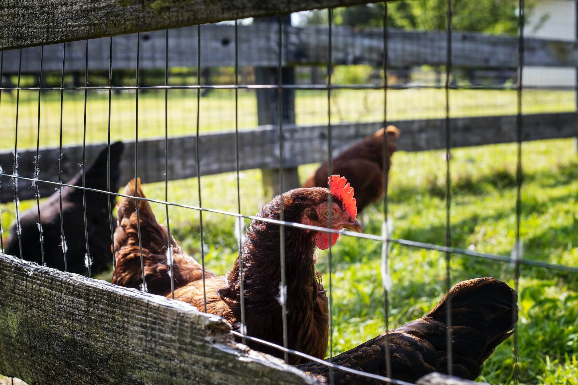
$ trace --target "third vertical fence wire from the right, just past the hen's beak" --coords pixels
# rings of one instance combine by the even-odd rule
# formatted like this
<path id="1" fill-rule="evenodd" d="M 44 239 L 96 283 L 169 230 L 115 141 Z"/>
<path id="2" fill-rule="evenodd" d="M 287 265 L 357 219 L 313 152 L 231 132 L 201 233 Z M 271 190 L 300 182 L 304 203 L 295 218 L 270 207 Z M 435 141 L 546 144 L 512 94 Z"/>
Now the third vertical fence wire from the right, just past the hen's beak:
<path id="1" fill-rule="evenodd" d="M 385 237 L 386 239 L 383 240 L 383 248 L 384 252 L 386 253 L 386 260 L 384 263 L 384 272 L 389 274 L 389 267 L 388 267 L 388 259 L 389 259 L 389 247 L 388 247 L 388 239 L 390 238 L 390 229 L 387 225 L 387 214 L 388 214 L 388 172 L 387 172 L 387 133 L 385 128 L 387 127 L 387 86 L 388 86 L 388 79 L 387 79 L 387 1 L 383 2 L 383 148 L 382 148 L 382 164 L 381 168 L 383 169 L 383 180 L 384 180 L 384 194 L 383 194 L 383 223 L 385 225 Z M 390 342 L 389 342 L 389 334 L 388 330 L 390 330 L 390 301 L 389 301 L 389 293 L 387 287 L 383 287 L 384 293 L 384 310 L 386 316 L 386 377 L 391 377 L 391 353 L 390 353 Z"/>

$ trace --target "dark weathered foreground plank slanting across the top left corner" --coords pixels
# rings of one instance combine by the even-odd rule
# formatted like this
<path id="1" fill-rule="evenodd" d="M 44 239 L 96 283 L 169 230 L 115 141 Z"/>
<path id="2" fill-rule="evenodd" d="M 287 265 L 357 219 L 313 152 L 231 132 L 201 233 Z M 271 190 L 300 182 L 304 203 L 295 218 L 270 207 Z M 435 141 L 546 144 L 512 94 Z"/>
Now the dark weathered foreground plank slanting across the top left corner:
<path id="1" fill-rule="evenodd" d="M 357 5 L 362 0 L 12 0 L 0 3 L 0 49 Z"/>

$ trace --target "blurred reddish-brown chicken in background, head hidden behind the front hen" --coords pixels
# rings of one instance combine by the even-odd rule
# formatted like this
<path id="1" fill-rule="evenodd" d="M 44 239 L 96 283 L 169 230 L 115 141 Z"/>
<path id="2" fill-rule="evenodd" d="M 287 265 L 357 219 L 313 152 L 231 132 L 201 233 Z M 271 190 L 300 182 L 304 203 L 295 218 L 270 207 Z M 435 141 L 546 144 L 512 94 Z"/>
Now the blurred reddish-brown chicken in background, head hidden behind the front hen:
<path id="1" fill-rule="evenodd" d="M 391 166 L 391 155 L 397 150 L 399 130 L 388 125 L 336 156 L 331 164 L 331 172 L 344 176 L 355 188 L 357 210 L 361 212 L 370 203 L 383 196 L 383 139 L 387 143 L 387 173 Z M 323 187 L 327 184 L 328 163 L 322 164 L 307 179 L 303 187 Z"/>

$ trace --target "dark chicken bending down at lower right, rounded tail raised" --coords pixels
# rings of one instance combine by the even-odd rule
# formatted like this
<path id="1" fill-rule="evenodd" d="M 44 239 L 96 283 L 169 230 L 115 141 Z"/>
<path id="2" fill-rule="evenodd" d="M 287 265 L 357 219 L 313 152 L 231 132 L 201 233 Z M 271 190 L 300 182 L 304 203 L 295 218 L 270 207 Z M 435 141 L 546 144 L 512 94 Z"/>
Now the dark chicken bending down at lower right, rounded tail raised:
<path id="1" fill-rule="evenodd" d="M 388 332 L 391 377 L 416 382 L 431 372 L 447 372 L 446 301 L 451 298 L 453 375 L 474 380 L 494 349 L 506 340 L 518 318 L 516 293 L 495 278 L 460 282 L 424 317 Z M 332 358 L 332 362 L 367 373 L 386 375 L 386 334 Z M 299 369 L 328 382 L 328 367 L 302 364 Z M 336 384 L 381 384 L 335 371 Z"/>

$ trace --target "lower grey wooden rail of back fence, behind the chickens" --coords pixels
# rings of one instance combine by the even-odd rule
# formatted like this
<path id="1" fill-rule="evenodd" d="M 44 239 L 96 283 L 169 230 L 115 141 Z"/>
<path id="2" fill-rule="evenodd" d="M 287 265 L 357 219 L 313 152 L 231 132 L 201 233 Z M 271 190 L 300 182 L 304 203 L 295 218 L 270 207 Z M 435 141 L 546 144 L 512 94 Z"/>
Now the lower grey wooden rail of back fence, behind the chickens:
<path id="1" fill-rule="evenodd" d="M 494 143 L 515 142 L 516 116 L 483 116 L 454 118 L 451 122 L 452 147 L 480 146 Z M 399 120 L 389 124 L 401 130 L 399 150 L 425 151 L 443 149 L 445 143 L 444 119 Z M 342 123 L 332 125 L 332 143 L 335 153 L 346 149 L 357 140 L 372 134 L 383 126 L 383 122 Z M 528 114 L 523 116 L 523 140 L 551 138 L 570 138 L 578 136 L 576 113 Z M 236 170 L 235 133 L 218 132 L 199 137 L 199 158 L 201 175 L 213 175 Z M 301 164 L 327 160 L 327 125 L 283 127 L 284 167 L 293 168 Z M 169 180 L 185 179 L 197 176 L 195 163 L 195 136 L 173 137 L 168 140 Z M 87 145 L 86 159 L 90 162 L 104 145 Z M 144 183 L 161 182 L 164 176 L 164 139 L 146 139 L 139 141 L 139 176 Z M 62 169 L 69 180 L 80 171 L 82 146 L 64 147 Z M 39 179 L 58 181 L 58 149 L 40 151 Z M 18 175 L 34 176 L 34 157 L 36 151 L 18 151 Z M 120 184 L 124 185 L 134 177 L 135 143 L 125 143 L 121 159 Z M 0 153 L 0 166 L 5 173 L 12 174 L 14 156 L 11 152 Z M 278 128 L 260 126 L 239 132 L 239 168 L 277 168 L 279 165 Z M 14 198 L 9 177 L 2 177 L 1 202 Z M 21 200 L 34 198 L 34 190 L 28 182 L 20 182 Z M 39 183 L 40 195 L 46 197 L 55 190 L 54 184 Z"/>

